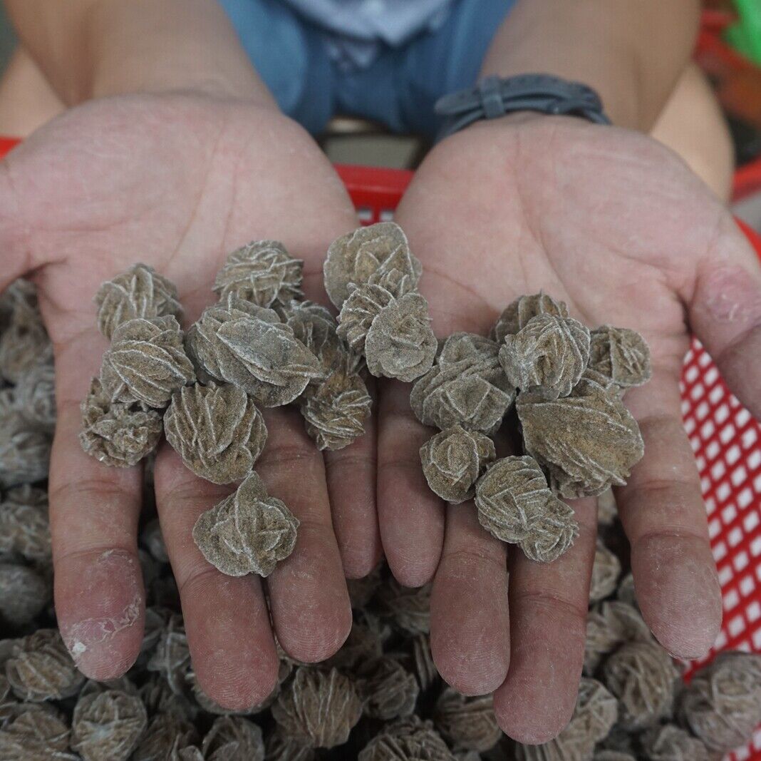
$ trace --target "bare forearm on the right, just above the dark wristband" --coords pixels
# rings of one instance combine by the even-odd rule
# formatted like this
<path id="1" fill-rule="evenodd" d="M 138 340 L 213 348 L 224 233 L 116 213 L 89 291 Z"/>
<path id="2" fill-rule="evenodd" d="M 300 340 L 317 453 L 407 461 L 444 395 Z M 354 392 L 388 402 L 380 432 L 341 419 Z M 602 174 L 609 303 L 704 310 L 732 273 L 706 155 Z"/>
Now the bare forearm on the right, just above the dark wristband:
<path id="1" fill-rule="evenodd" d="M 545 72 L 594 87 L 614 123 L 648 130 L 692 52 L 697 0 L 517 0 L 482 75 Z"/>

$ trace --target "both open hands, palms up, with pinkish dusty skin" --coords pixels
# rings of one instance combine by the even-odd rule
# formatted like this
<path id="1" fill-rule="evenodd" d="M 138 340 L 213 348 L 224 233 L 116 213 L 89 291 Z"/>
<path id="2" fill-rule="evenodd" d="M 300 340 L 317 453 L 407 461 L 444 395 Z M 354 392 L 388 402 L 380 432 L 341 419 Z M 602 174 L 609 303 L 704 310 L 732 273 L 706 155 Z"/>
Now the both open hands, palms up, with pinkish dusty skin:
<path id="1" fill-rule="evenodd" d="M 439 336 L 486 332 L 515 296 L 540 288 L 588 325 L 645 334 L 654 378 L 626 403 L 646 455 L 619 507 L 648 624 L 675 654 L 705 651 L 721 603 L 677 381 L 689 321 L 737 395 L 761 411 L 761 275 L 734 222 L 655 142 L 560 117 L 482 124 L 442 142 L 397 221 L 422 260 Z M 307 295 L 324 301 L 324 252 L 356 224 L 338 177 L 301 129 L 272 110 L 224 101 L 89 104 L 0 165 L 0 247 L 10 263 L 0 286 L 35 273 L 56 344 L 56 609 L 88 676 L 123 673 L 142 638 L 139 470 L 103 468 L 72 446 L 78 402 L 106 346 L 94 328 L 95 289 L 145 261 L 177 283 L 192 321 L 213 300 L 228 251 L 279 238 L 306 261 Z M 323 460 L 298 415 L 268 411 L 257 469 L 301 529 L 294 554 L 265 583 L 205 564 L 190 529 L 222 492 L 162 450 L 158 507 L 199 682 L 237 708 L 269 692 L 277 660 L 265 594 L 289 654 L 321 660 L 335 651 L 351 623 L 342 570 L 360 577 L 373 567 L 380 523 L 401 583 L 435 577 L 431 646 L 444 678 L 470 694 L 495 690 L 508 734 L 547 740 L 568 720 L 581 672 L 594 500 L 575 504 L 581 535 L 556 563 L 511 553 L 508 588 L 505 545 L 480 529 L 472 506 L 444 508 L 428 491 L 417 450 L 432 432 L 411 417 L 407 392 L 380 384 L 377 492 L 374 430 Z"/>

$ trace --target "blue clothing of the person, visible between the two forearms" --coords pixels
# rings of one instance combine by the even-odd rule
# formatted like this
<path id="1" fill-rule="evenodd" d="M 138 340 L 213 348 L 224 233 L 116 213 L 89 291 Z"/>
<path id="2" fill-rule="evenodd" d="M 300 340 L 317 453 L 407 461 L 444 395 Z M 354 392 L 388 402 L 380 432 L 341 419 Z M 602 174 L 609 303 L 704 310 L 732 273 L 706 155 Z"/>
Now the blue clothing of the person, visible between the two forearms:
<path id="1" fill-rule="evenodd" d="M 333 114 L 438 129 L 441 95 L 475 84 L 514 0 L 218 0 L 279 106 L 312 133 Z"/>

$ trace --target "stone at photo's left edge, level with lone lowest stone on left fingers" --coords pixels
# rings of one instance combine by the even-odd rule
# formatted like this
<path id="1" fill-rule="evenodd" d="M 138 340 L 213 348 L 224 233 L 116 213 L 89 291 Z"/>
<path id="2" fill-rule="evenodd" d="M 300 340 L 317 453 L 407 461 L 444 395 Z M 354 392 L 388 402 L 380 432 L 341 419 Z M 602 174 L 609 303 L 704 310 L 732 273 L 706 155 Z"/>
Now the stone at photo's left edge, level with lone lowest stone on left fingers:
<path id="1" fill-rule="evenodd" d="M 30 561 L 49 561 L 48 499 L 43 489 L 17 486 L 0 503 L 0 552 L 18 552 Z"/>

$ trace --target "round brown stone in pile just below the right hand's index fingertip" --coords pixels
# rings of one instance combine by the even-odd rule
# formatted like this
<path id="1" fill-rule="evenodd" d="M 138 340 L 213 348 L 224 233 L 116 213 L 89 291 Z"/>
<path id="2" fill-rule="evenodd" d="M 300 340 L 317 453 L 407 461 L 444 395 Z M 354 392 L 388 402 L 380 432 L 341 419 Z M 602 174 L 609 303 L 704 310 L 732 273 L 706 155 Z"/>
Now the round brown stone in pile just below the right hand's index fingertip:
<path id="1" fill-rule="evenodd" d="M 603 676 L 607 688 L 619 699 L 619 721 L 626 729 L 650 727 L 670 714 L 679 673 L 661 645 L 622 645 L 606 661 Z"/>

